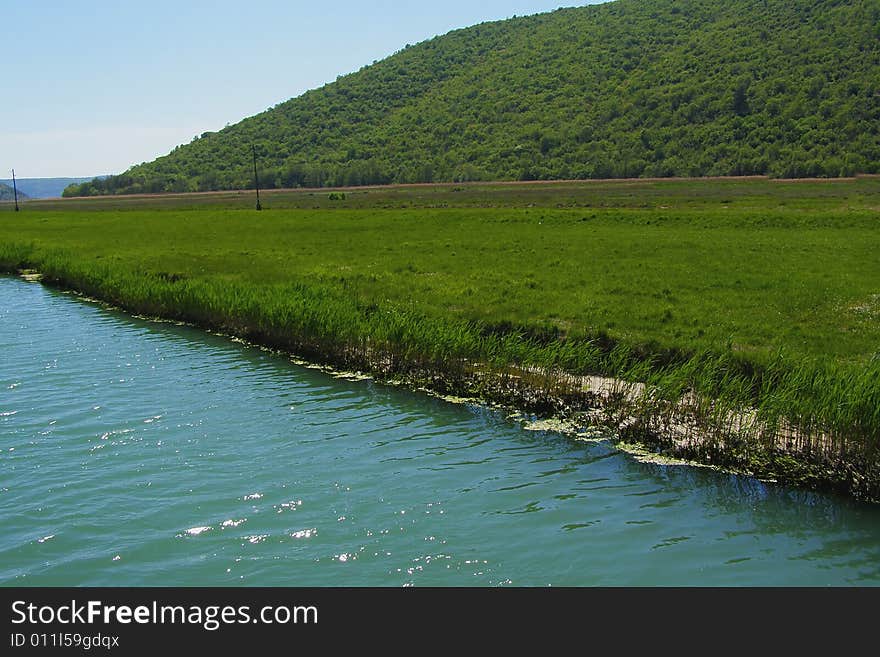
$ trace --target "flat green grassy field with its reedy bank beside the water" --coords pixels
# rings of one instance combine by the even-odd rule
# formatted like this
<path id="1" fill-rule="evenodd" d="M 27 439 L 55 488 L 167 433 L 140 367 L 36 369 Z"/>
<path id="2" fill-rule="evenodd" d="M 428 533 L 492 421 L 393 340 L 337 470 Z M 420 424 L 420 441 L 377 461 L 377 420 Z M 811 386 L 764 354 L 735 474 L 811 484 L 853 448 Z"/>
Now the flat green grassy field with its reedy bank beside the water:
<path id="1" fill-rule="evenodd" d="M 34 202 L 0 215 L 0 267 L 880 498 L 876 179 L 296 191 L 262 213 L 251 201 Z"/>

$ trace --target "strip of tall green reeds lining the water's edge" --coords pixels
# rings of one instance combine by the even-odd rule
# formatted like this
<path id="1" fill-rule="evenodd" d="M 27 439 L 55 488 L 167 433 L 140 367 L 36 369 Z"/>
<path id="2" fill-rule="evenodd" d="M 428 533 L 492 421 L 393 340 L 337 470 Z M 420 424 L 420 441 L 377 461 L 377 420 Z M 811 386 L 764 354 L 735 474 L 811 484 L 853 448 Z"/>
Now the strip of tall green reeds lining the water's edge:
<path id="1" fill-rule="evenodd" d="M 0 269 L 139 315 L 242 337 L 316 363 L 542 416 L 799 486 L 880 500 L 880 361 L 782 350 L 754 362 L 605 335 L 548 335 L 365 303 L 338 286 L 257 284 L 131 269 L 33 244 L 0 244 Z"/>

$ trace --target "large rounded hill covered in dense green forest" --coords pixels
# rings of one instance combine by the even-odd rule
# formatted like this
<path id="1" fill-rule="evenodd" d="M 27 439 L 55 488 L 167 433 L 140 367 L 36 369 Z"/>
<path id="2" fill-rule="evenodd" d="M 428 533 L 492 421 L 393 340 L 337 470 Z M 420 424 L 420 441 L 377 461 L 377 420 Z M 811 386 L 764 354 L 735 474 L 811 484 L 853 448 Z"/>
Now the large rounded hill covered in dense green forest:
<path id="1" fill-rule="evenodd" d="M 66 194 L 880 171 L 880 0 L 616 0 L 484 23 Z"/>

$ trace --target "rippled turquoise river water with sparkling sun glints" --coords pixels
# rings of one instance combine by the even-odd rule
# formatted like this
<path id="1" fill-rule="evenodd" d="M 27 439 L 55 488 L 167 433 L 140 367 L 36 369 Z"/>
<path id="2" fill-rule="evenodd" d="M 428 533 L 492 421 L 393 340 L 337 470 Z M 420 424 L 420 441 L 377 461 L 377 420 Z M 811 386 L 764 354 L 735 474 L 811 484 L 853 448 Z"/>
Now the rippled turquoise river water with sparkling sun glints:
<path id="1" fill-rule="evenodd" d="M 880 508 L 0 277 L 5 586 L 876 585 Z"/>

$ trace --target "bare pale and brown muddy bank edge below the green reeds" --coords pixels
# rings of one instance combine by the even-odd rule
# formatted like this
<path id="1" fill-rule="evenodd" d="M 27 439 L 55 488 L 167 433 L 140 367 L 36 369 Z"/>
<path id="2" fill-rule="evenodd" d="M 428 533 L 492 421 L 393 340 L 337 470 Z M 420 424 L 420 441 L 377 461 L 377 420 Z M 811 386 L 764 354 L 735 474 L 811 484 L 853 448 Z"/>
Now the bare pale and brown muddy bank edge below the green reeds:
<path id="1" fill-rule="evenodd" d="M 873 462 L 859 463 L 845 451 L 837 458 L 829 457 L 827 452 L 817 453 L 810 448 L 812 441 L 802 441 L 797 432 L 789 432 L 781 441 L 775 433 L 770 441 L 756 439 L 753 433 L 742 429 L 744 424 L 739 421 L 728 421 L 728 431 L 723 436 L 711 435 L 713 431 L 717 433 L 717 427 L 706 425 L 703 427 L 705 434 L 701 436 L 699 431 L 693 431 L 695 427 L 700 429 L 699 413 L 682 404 L 674 414 L 664 416 L 664 421 L 658 423 L 650 412 L 645 413 L 647 407 L 639 392 L 640 383 L 477 363 L 461 368 L 456 376 L 450 376 L 448 371 L 426 369 L 418 363 L 401 367 L 399 361 L 393 367 L 382 366 L 378 361 L 368 368 L 352 368 L 344 358 L 301 353 L 289 345 L 278 344 L 272 336 L 255 327 L 237 326 L 229 330 L 229 326 L 143 312 L 136 304 L 124 300 L 120 303 L 118 299 L 87 294 L 58 274 L 49 278 L 36 270 L 2 264 L 0 273 L 18 275 L 31 282 L 69 291 L 133 316 L 186 324 L 243 340 L 285 354 L 300 365 L 339 376 L 369 377 L 380 383 L 404 386 L 450 401 L 503 409 L 514 417 L 531 416 L 539 423 L 533 426 L 543 425 L 575 439 L 608 439 L 605 436 L 613 435 L 615 438 L 611 440 L 618 448 L 642 461 L 711 467 L 768 483 L 880 502 L 880 468 Z M 705 418 L 702 421 L 705 422 Z"/>

